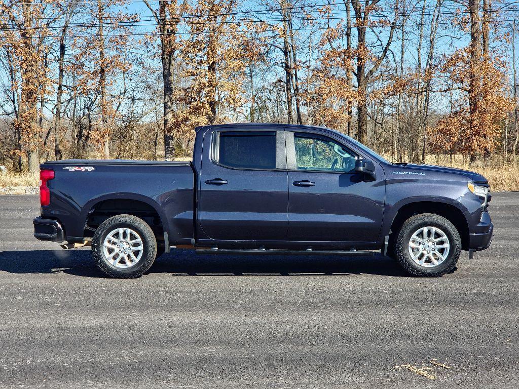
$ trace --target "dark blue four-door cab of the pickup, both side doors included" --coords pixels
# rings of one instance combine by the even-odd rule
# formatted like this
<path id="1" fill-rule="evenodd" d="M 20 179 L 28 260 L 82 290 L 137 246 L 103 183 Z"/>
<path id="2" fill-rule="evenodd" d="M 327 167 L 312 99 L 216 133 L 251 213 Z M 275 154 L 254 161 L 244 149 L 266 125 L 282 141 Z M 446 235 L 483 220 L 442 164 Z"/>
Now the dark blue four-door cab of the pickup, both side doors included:
<path id="1" fill-rule="evenodd" d="M 201 244 L 378 247 L 384 170 L 376 163 L 371 176 L 358 172 L 357 161 L 369 155 L 339 133 L 303 126 L 222 126 L 197 135 L 203 142 L 194 156 L 201 172 Z"/>

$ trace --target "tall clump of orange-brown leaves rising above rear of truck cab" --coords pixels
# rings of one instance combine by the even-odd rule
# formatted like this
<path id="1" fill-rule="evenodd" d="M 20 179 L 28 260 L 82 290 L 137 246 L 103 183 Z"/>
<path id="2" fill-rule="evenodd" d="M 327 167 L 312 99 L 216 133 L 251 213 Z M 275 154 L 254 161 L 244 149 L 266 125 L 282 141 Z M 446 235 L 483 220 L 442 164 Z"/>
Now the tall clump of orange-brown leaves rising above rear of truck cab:
<path id="1" fill-rule="evenodd" d="M 252 23 L 238 23 L 233 15 L 225 15 L 235 5 L 203 0 L 187 9 L 194 17 L 185 21 L 187 33 L 179 37 L 176 51 L 185 86 L 173 92 L 175 131 L 183 138 L 192 137 L 196 126 L 229 120 L 224 108 L 236 109 L 245 103 L 244 71 L 264 45 L 248 32 Z"/>

